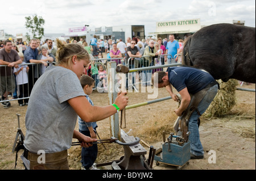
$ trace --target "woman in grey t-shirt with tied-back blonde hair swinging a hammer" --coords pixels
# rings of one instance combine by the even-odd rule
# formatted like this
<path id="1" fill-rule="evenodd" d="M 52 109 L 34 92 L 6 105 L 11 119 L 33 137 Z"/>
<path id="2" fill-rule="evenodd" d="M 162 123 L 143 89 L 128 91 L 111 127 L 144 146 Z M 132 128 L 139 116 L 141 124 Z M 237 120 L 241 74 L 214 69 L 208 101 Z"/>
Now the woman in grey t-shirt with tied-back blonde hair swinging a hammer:
<path id="1" fill-rule="evenodd" d="M 89 54 L 80 44 L 62 44 L 57 40 L 57 66 L 48 66 L 36 81 L 26 113 L 24 157 L 30 169 L 68 169 L 67 149 L 72 138 L 89 147 L 96 141 L 74 130 L 77 115 L 86 122 L 103 120 L 127 106 L 126 92 L 115 99 L 115 106 L 92 106 L 80 84 Z"/>

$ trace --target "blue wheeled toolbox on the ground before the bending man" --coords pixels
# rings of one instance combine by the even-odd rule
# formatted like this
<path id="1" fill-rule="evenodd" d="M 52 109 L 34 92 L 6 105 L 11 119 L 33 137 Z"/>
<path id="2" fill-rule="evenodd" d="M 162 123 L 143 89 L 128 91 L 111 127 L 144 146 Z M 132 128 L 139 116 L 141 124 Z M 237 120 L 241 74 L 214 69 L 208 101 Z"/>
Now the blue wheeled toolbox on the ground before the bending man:
<path id="1" fill-rule="evenodd" d="M 165 137 L 165 135 L 163 136 Z M 177 166 L 181 169 L 190 159 L 190 142 L 184 140 L 183 137 L 174 135 L 171 133 L 167 138 L 167 142 L 164 138 L 164 144 L 162 145 L 162 152 L 160 157 L 155 155 L 154 160 L 156 165 L 165 163 L 167 165 Z"/>

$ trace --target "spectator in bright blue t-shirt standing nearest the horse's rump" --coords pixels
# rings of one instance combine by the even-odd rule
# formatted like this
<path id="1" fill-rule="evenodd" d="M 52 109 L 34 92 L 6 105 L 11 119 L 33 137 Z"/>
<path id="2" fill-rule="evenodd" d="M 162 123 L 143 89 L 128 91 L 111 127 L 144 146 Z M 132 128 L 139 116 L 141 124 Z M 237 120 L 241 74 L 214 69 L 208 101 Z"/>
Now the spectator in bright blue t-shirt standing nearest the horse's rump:
<path id="1" fill-rule="evenodd" d="M 176 40 L 174 40 L 173 34 L 169 35 L 169 40 L 170 41 L 168 41 L 168 43 L 166 45 L 166 53 L 165 54 L 171 54 L 171 55 L 168 55 L 167 63 L 174 64 L 175 63 L 174 56 L 179 51 L 180 45 Z M 166 57 L 165 57 L 165 61 L 166 61 Z"/>

